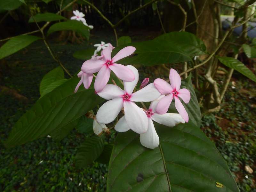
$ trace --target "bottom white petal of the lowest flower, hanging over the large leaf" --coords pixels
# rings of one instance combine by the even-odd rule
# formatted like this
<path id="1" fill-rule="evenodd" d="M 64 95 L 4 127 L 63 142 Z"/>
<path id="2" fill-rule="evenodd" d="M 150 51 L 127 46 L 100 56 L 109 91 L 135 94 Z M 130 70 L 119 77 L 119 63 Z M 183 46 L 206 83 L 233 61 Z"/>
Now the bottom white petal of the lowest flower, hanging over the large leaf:
<path id="1" fill-rule="evenodd" d="M 154 149 L 159 145 L 159 137 L 151 118 L 148 118 L 147 132 L 140 134 L 140 143 L 146 148 Z"/>

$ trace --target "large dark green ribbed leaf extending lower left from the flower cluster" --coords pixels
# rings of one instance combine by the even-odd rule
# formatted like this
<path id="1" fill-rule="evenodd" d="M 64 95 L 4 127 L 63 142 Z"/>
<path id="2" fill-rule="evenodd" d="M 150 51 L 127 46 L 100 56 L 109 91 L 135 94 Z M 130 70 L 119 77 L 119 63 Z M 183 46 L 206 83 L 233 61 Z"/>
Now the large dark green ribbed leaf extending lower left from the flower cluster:
<path id="1" fill-rule="evenodd" d="M 5 146 L 15 147 L 62 130 L 104 101 L 94 89 L 79 89 L 80 79 L 73 77 L 40 98 L 13 126 Z"/>

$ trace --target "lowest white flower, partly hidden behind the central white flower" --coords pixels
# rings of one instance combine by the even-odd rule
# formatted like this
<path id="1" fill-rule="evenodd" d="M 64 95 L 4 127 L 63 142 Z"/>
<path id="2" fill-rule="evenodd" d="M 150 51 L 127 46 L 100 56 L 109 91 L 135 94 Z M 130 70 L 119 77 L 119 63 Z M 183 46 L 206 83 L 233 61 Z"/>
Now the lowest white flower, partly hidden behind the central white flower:
<path id="1" fill-rule="evenodd" d="M 162 99 L 163 97 L 164 95 L 161 95 L 159 98 L 152 101 L 147 111 L 141 109 L 148 116 L 148 130 L 147 132 L 140 134 L 140 143 L 144 147 L 154 149 L 159 144 L 159 137 L 156 133 L 153 121 L 169 127 L 173 127 L 179 123 L 185 123 L 184 119 L 178 113 L 165 113 L 165 114 L 156 113 L 156 105 L 159 102 L 159 100 Z M 123 116 L 117 122 L 115 126 L 115 130 L 118 132 L 126 132 L 129 129 L 130 129 L 130 126 L 127 124 L 125 120 L 125 116 Z"/>

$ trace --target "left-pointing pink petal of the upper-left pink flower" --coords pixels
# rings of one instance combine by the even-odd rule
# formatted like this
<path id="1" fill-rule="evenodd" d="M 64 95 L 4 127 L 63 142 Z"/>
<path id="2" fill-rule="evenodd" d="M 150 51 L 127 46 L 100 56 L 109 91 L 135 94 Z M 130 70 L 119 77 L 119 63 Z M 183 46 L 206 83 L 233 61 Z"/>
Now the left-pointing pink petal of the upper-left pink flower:
<path id="1" fill-rule="evenodd" d="M 89 59 L 83 63 L 81 69 L 84 73 L 96 73 L 105 63 L 103 60 Z"/>

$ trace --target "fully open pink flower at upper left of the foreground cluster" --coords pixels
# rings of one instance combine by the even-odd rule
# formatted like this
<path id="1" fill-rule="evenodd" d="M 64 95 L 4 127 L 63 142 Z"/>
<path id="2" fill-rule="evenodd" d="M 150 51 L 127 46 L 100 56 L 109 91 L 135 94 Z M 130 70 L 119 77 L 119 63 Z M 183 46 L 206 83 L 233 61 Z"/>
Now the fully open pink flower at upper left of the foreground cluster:
<path id="1" fill-rule="evenodd" d="M 94 89 L 96 92 L 100 92 L 108 83 L 111 70 L 118 78 L 124 81 L 134 80 L 132 70 L 124 65 L 117 64 L 116 61 L 131 55 L 135 51 L 135 47 L 124 47 L 111 59 L 112 50 L 113 47 L 108 46 L 102 51 L 102 55 L 104 55 L 104 57 L 101 60 L 90 59 L 85 61 L 82 65 L 82 71 L 84 73 L 96 73 L 99 71 L 94 83 Z"/>

